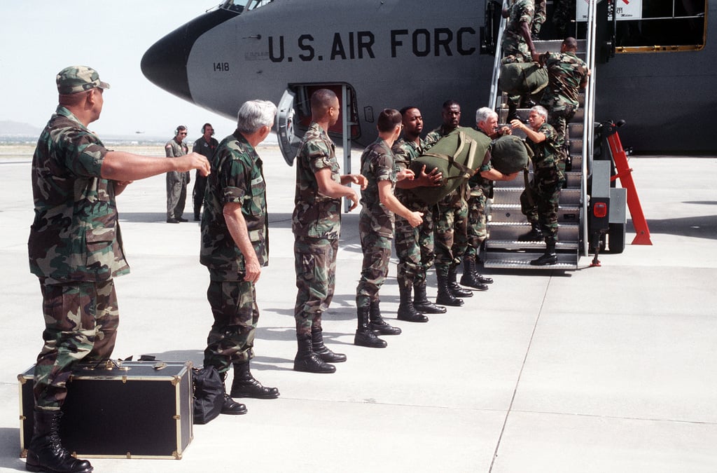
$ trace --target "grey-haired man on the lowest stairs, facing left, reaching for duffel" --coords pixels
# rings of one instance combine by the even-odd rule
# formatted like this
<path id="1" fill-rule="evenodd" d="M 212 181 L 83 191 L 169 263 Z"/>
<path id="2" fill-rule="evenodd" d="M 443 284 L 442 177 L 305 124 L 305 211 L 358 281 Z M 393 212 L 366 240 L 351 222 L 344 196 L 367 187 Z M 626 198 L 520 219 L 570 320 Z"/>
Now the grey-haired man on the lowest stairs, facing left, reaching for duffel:
<path id="1" fill-rule="evenodd" d="M 533 149 L 533 180 L 521 194 L 521 211 L 528 217 L 533 230 L 522 240 L 533 240 L 535 229 L 544 235 L 546 250 L 540 258 L 531 261 L 533 266 L 546 266 L 558 262 L 555 245 L 558 241 L 558 203 L 560 189 L 565 182 L 560 164 L 560 146 L 555 128 L 546 123 L 548 112 L 541 106 L 531 108 L 526 126 L 513 120 L 511 126 L 523 130 L 528 146 Z"/>

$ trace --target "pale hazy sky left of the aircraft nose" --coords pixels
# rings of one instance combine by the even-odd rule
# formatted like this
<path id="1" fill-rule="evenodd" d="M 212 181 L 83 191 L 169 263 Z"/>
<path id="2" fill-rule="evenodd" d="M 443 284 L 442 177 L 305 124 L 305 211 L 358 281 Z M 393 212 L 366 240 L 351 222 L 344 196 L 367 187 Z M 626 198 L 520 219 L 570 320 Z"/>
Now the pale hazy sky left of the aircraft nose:
<path id="1" fill-rule="evenodd" d="M 42 128 L 57 107 L 55 76 L 86 65 L 110 83 L 102 116 L 90 125 L 100 137 L 174 136 L 184 124 L 188 139 L 210 122 L 217 136 L 235 123 L 171 95 L 140 69 L 158 39 L 219 4 L 219 0 L 2 0 L 0 2 L 0 121 Z M 0 134 L 2 131 L 0 130 Z"/>

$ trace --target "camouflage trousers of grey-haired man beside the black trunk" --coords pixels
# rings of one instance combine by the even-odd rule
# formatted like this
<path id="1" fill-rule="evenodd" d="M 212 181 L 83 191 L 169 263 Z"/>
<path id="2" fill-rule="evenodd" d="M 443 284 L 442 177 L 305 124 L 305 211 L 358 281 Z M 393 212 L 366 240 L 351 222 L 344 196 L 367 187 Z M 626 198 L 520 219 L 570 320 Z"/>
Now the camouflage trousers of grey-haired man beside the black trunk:
<path id="1" fill-rule="evenodd" d="M 254 333 L 259 321 L 257 292 L 250 281 L 209 281 L 206 300 L 212 307 L 214 324 L 204 350 L 204 366 L 219 373 L 254 357 Z"/>

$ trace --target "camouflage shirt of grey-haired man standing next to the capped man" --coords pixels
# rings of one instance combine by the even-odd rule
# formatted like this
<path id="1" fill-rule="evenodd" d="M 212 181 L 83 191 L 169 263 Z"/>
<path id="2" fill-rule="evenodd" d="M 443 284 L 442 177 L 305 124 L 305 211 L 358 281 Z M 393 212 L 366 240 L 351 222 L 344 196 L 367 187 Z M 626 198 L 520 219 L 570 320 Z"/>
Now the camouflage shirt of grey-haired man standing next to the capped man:
<path id="1" fill-rule="evenodd" d="M 209 268 L 212 281 L 244 278 L 244 256 L 224 220 L 224 205 L 229 202 L 242 205 L 249 239 L 259 264 L 266 266 L 269 227 L 262 160 L 239 131 L 219 144 L 212 158 L 212 173 L 206 179 L 199 262 Z"/>

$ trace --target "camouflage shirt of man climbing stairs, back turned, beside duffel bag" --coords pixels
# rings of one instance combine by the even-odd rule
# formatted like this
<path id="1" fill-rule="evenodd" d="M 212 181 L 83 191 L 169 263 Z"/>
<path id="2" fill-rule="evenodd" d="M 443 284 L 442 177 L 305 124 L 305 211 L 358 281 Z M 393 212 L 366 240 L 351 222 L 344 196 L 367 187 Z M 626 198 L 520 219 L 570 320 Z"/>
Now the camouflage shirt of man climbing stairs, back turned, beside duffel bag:
<path id="1" fill-rule="evenodd" d="M 540 63 L 548 70 L 548 87 L 541 104 L 549 111 L 565 104 L 578 108 L 578 90 L 587 77 L 587 65 L 573 52 L 545 52 Z"/>

